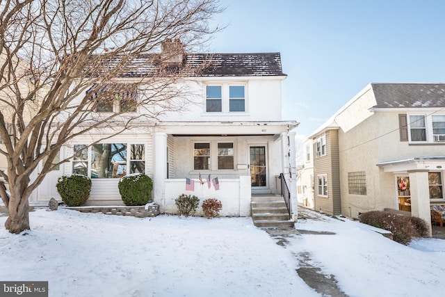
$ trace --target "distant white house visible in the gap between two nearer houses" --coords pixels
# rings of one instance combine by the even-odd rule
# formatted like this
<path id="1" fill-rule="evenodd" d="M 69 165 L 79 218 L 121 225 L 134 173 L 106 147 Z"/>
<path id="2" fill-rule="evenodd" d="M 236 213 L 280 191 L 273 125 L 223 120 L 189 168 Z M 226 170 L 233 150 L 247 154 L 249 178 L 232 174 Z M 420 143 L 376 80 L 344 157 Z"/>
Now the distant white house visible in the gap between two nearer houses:
<path id="1" fill-rule="evenodd" d="M 314 152 L 312 139 L 303 142 L 303 164 L 297 172 L 297 196 L 298 204 L 314 209 Z"/>

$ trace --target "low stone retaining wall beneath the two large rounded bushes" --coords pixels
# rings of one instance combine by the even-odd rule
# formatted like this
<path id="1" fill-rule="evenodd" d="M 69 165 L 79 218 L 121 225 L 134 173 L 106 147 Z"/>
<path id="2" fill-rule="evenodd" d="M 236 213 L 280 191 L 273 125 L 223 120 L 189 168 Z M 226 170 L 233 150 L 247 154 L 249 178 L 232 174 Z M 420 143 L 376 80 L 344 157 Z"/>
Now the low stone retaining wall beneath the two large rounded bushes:
<path id="1" fill-rule="evenodd" d="M 135 216 L 136 218 L 148 218 L 159 215 L 159 205 L 157 204 L 137 207 L 65 207 L 65 209 L 92 214 L 102 213 L 115 216 Z"/>

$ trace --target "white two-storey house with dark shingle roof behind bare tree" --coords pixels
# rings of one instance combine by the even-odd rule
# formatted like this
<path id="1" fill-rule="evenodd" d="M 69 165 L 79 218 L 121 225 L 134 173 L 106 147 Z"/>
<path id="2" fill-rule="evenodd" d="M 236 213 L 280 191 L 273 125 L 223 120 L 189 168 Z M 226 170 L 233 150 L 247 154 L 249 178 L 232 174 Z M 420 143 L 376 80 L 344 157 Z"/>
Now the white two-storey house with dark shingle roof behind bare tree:
<path id="1" fill-rule="evenodd" d="M 277 177 L 284 174 L 296 204 L 295 132 L 291 130 L 298 123 L 282 120 L 281 83 L 286 74 L 280 54 L 184 53 L 175 57 L 175 63 L 179 68 L 194 67 L 207 56 L 211 65 L 207 71 L 181 80 L 179 87 L 191 94 L 191 103 L 183 111 L 165 113 L 154 122 L 136 122 L 137 129 L 88 148 L 104 131 L 76 138 L 60 151 L 63 156 L 77 153 L 74 160 L 50 172 L 31 199 L 58 198 L 57 178 L 75 172 L 92 179 L 88 204 L 122 204 L 120 177 L 142 172 L 153 179 L 154 202 L 161 213 L 175 213 L 175 199 L 186 193 L 200 200 L 221 200 L 223 216 L 249 216 L 252 194 L 280 194 Z M 131 75 L 122 83 L 125 79 Z M 126 90 L 120 106 L 116 102 L 99 106 L 98 112 L 131 109 L 131 104 L 122 104 L 137 99 L 133 93 Z M 102 154 L 108 158 L 101 158 Z M 187 179 L 194 186 L 186 190 Z M 296 215 L 296 207 L 293 211 Z"/>

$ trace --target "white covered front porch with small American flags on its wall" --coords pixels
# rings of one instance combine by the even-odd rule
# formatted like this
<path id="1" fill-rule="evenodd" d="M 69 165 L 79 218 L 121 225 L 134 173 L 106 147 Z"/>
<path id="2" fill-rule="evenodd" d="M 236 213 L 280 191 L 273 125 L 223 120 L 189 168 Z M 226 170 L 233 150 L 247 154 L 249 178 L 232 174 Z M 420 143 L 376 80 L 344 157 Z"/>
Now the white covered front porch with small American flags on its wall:
<path id="1" fill-rule="evenodd" d="M 252 193 L 280 194 L 277 177 L 284 172 L 296 216 L 294 127 L 293 121 L 162 122 L 154 129 L 154 202 L 174 214 L 184 193 L 221 200 L 221 216 L 250 216 Z"/>

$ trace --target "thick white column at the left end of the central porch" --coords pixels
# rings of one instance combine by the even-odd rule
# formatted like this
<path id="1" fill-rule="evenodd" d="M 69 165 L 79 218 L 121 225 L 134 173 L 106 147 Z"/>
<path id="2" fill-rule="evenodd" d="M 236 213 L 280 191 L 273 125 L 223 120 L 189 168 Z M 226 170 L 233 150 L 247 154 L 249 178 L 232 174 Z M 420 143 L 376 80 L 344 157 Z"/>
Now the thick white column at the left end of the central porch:
<path id="1" fill-rule="evenodd" d="M 167 178 L 167 134 L 164 132 L 154 134 L 153 167 L 153 201 L 159 204 L 162 213 L 165 209 L 165 178 Z"/>

